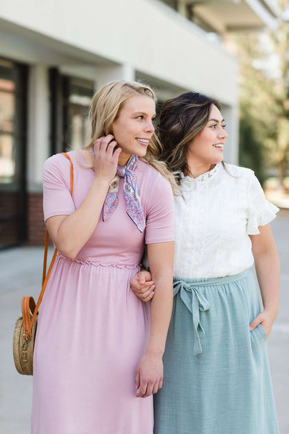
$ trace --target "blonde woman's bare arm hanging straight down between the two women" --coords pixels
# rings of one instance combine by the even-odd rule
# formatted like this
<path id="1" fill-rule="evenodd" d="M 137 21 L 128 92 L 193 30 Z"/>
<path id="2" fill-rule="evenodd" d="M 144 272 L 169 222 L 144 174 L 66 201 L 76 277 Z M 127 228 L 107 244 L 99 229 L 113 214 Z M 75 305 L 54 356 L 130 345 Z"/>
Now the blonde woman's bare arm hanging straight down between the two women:
<path id="1" fill-rule="evenodd" d="M 147 253 L 157 290 L 150 305 L 149 343 L 135 373 L 136 396 L 142 398 L 156 393 L 163 385 L 163 353 L 172 314 L 174 242 L 149 244 Z"/>

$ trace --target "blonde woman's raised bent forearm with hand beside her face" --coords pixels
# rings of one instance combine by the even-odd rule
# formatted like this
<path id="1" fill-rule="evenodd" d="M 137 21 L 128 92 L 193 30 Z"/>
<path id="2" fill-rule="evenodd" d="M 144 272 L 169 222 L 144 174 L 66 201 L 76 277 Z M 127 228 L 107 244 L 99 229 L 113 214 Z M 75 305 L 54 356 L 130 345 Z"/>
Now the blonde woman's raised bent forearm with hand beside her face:
<path id="1" fill-rule="evenodd" d="M 47 230 L 62 255 L 74 259 L 94 231 L 111 180 L 115 177 L 121 152 L 109 135 L 96 140 L 93 165 L 95 177 L 81 206 L 70 216 L 53 216 L 47 219 Z"/>

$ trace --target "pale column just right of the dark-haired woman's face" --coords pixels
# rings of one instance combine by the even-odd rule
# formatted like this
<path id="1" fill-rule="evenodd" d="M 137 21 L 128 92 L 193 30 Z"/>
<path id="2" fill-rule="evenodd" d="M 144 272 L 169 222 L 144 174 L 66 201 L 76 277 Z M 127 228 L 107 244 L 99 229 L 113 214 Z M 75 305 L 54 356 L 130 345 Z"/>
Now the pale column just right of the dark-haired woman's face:
<path id="1" fill-rule="evenodd" d="M 231 164 L 239 162 L 239 120 L 238 106 L 222 104 L 222 115 L 226 122 L 228 138 L 224 150 L 224 161 Z"/>

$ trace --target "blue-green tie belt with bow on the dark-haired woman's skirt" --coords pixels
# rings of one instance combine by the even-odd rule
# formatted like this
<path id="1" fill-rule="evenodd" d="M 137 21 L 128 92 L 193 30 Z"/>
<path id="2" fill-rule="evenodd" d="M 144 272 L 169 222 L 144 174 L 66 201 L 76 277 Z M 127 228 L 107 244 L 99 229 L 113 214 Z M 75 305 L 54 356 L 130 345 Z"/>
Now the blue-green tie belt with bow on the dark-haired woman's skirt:
<path id="1" fill-rule="evenodd" d="M 210 303 L 204 296 L 204 292 L 201 291 L 201 287 L 215 287 L 231 282 L 236 282 L 242 278 L 245 278 L 248 274 L 248 270 L 242 273 L 225 276 L 224 278 L 210 278 L 210 279 L 182 279 L 174 278 L 174 296 L 180 294 L 181 300 L 185 303 L 192 314 L 192 327 L 194 330 L 194 354 L 201 354 L 201 339 L 199 337 L 199 330 L 203 333 L 204 328 L 201 326 L 199 312 L 205 312 L 210 309 Z"/>

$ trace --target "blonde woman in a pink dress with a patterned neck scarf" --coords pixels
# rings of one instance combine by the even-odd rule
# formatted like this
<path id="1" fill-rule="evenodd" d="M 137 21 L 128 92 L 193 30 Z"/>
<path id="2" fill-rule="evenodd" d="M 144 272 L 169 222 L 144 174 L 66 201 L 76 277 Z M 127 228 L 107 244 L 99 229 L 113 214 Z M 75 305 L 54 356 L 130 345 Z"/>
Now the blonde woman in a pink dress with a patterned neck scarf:
<path id="1" fill-rule="evenodd" d="M 58 154 L 44 165 L 44 218 L 58 255 L 38 320 L 33 434 L 153 432 L 174 256 L 154 117 L 148 86 L 108 83 L 92 99 L 90 145 L 69 152 L 72 197 L 69 161 Z M 145 243 L 158 285 L 150 306 L 129 289 Z"/>

